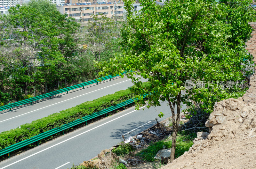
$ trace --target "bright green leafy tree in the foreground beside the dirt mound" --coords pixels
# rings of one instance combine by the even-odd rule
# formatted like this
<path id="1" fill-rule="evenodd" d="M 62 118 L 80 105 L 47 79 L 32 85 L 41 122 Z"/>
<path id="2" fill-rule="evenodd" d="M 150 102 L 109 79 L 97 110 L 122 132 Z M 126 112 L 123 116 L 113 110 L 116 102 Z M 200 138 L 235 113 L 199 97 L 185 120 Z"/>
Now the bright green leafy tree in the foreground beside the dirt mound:
<path id="1" fill-rule="evenodd" d="M 252 57 L 246 55 L 244 48 L 237 55 L 236 48 L 229 45 L 230 25 L 222 20 L 227 16 L 223 4 L 207 0 L 172 0 L 157 5 L 152 0 L 143 0 L 140 1 L 141 14 L 134 16 L 132 3 L 125 1 L 128 13 L 127 26 L 121 33 L 123 55 L 109 63 L 96 63 L 101 69 L 100 76 L 121 75 L 127 71 L 127 77 L 136 85 L 130 90 L 140 105 L 160 106 L 160 101 L 168 101 L 172 113 L 172 161 L 181 103 L 191 106 L 193 100 L 211 105 L 213 99 L 218 101 L 216 98 L 226 93 L 218 81 L 244 79 L 241 71 L 245 71 L 245 66 L 240 63 L 247 61 L 241 56 L 249 60 Z M 142 87 L 140 77 L 135 74 L 148 79 L 151 85 Z M 195 85 L 189 89 L 185 87 L 188 80 L 203 83 L 201 87 Z M 140 96 L 142 94 L 148 94 L 147 103 Z M 211 112 L 212 107 L 204 107 L 204 110 Z"/>

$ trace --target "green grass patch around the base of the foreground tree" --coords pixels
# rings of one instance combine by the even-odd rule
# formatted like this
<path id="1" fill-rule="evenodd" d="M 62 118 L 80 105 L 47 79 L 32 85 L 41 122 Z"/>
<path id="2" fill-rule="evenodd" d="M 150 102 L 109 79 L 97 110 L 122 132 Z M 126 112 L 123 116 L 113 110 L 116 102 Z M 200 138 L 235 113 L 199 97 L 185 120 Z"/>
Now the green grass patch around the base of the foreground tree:
<path id="1" fill-rule="evenodd" d="M 175 158 L 180 157 L 185 151 L 188 151 L 188 149 L 193 145 L 194 138 L 196 138 L 196 133 L 190 134 L 186 131 L 178 133 L 176 139 Z M 159 142 L 150 143 L 147 149 L 138 152 L 136 156 L 140 156 L 146 161 L 155 161 L 154 157 L 159 150 L 163 149 L 163 145 L 167 149 L 172 148 L 172 140 L 166 138 Z"/>

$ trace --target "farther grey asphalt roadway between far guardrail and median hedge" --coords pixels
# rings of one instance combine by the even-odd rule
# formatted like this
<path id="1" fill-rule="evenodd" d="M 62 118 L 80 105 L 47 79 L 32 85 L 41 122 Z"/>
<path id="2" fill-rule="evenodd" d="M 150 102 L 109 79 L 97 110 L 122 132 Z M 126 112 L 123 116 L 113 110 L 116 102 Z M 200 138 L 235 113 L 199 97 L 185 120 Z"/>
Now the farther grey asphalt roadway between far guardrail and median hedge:
<path id="1" fill-rule="evenodd" d="M 146 79 L 141 79 L 143 82 Z M 98 99 L 108 94 L 115 93 L 120 90 L 125 90 L 132 86 L 131 79 L 127 77 L 115 78 L 113 80 L 99 83 L 99 85 L 92 85 L 84 89 L 76 90 L 74 92 L 64 93 L 58 97 L 47 99 L 33 105 L 23 106 L 11 111 L 4 111 L 0 113 L 0 133 L 6 130 L 15 129 L 22 124 L 30 123 L 34 120 L 41 119 L 50 114 L 66 110 L 86 101 Z"/>

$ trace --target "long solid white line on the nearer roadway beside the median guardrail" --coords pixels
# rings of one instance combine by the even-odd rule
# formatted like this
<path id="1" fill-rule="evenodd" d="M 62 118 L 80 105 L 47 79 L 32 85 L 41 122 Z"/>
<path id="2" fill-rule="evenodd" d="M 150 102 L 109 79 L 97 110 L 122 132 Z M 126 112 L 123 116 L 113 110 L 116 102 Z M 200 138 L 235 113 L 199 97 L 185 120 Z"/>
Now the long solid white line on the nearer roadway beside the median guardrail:
<path id="1" fill-rule="evenodd" d="M 146 106 L 147 106 L 147 105 L 146 105 Z M 144 108 L 144 107 L 146 107 L 146 106 L 140 107 L 139 109 L 142 109 L 142 108 Z M 87 132 L 89 132 L 89 131 L 92 131 L 92 130 L 94 130 L 94 129 L 97 129 L 98 127 L 101 127 L 101 126 L 103 126 L 103 125 L 105 125 L 105 124 L 108 124 L 108 123 L 110 123 L 110 122 L 112 122 L 112 121 L 115 121 L 116 119 L 119 119 L 119 118 L 121 118 L 121 117 L 124 117 L 124 116 L 126 116 L 126 115 L 128 115 L 128 114 L 131 114 L 131 113 L 135 112 L 135 111 L 137 111 L 137 110 L 133 110 L 133 111 L 127 113 L 127 114 L 124 114 L 124 115 L 122 115 L 122 116 L 120 116 L 120 117 L 117 117 L 117 118 L 115 118 L 115 119 L 113 119 L 113 120 L 110 120 L 110 121 L 108 121 L 108 122 L 106 122 L 106 123 L 103 123 L 103 124 L 101 124 L 101 125 L 99 125 L 99 126 L 97 126 L 97 127 L 94 127 L 94 128 L 92 128 L 92 129 L 87 130 L 87 131 L 85 131 L 85 132 L 83 132 L 83 133 L 80 133 L 80 134 L 78 134 L 78 135 L 76 135 L 76 136 L 73 136 L 73 137 L 71 137 L 71 138 L 68 138 L 67 140 L 64 140 L 64 141 L 62 141 L 62 142 L 60 142 L 60 143 L 54 144 L 54 145 L 52 145 L 52 146 L 50 146 L 50 147 L 48 147 L 48 148 L 46 148 L 46 149 L 44 149 L 44 150 L 38 151 L 38 152 L 36 152 L 36 153 L 34 153 L 34 154 L 31 154 L 31 155 L 28 156 L 28 157 L 22 158 L 22 159 L 20 159 L 20 160 L 18 160 L 18 161 L 15 161 L 15 162 L 12 163 L 12 164 L 9 164 L 9 165 L 6 165 L 6 166 L 2 167 L 2 168 L 0 168 L 0 169 L 4 169 L 4 168 L 9 167 L 9 166 L 11 166 L 11 165 L 13 165 L 13 164 L 16 164 L 16 163 L 18 163 L 18 162 L 20 162 L 20 161 L 22 161 L 22 160 L 25 160 L 25 159 L 27 159 L 27 158 L 29 158 L 29 157 L 32 157 L 32 156 L 34 156 L 34 155 L 36 155 L 36 154 L 38 154 L 38 153 L 40 153 L 40 152 L 43 152 L 43 151 L 48 150 L 48 149 L 50 149 L 50 148 L 52 148 L 52 147 L 55 147 L 56 145 L 59 145 L 59 144 L 61 144 L 61 143 L 64 143 L 64 142 L 66 142 L 66 141 L 68 141 L 68 140 L 71 140 L 71 139 L 73 139 L 73 138 L 75 138 L 75 137 L 77 137 L 77 136 L 80 136 L 80 135 L 82 135 L 82 134 L 84 134 L 84 133 L 87 133 Z"/>

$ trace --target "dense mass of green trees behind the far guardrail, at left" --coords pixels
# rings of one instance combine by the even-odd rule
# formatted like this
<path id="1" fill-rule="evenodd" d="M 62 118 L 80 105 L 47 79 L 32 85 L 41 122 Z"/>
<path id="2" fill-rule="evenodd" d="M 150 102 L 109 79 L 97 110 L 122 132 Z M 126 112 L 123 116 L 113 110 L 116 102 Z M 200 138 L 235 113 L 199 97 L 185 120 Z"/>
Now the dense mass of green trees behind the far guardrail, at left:
<path id="1" fill-rule="evenodd" d="M 0 16 L 0 106 L 95 79 L 96 49 L 98 60 L 109 60 L 119 51 L 118 40 L 109 33 L 113 19 L 93 41 L 94 22 L 81 27 L 47 0 L 30 0 L 8 12 Z M 102 48 L 93 47 L 100 40 Z"/>

